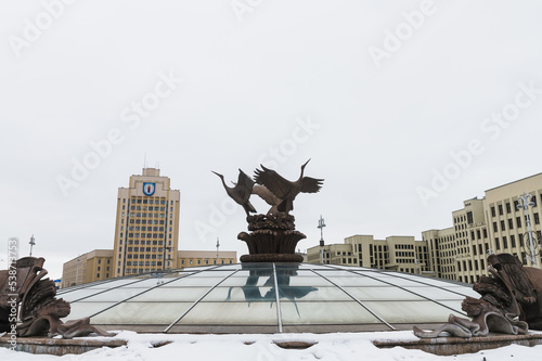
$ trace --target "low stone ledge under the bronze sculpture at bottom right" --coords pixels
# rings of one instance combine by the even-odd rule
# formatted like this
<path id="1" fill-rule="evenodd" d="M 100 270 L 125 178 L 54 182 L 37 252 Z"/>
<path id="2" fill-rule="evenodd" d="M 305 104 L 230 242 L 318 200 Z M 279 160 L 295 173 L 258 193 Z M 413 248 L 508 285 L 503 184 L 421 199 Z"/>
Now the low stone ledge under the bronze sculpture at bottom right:
<path id="1" fill-rule="evenodd" d="M 542 345 L 542 334 L 528 335 L 502 335 L 489 334 L 487 337 L 438 337 L 421 338 L 418 340 L 374 340 L 373 345 L 378 348 L 404 347 L 418 349 L 438 356 L 452 356 L 462 353 L 476 353 L 480 350 L 509 346 L 512 344 L 520 346 Z"/>

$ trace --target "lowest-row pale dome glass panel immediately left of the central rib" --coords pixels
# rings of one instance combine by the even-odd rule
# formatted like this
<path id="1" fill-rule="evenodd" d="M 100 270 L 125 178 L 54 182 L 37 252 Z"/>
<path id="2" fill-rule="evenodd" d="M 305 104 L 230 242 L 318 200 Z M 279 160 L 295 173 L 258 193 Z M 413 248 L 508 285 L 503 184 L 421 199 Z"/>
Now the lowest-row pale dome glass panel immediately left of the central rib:
<path id="1" fill-rule="evenodd" d="M 276 302 L 198 302 L 180 324 L 278 324 Z"/>

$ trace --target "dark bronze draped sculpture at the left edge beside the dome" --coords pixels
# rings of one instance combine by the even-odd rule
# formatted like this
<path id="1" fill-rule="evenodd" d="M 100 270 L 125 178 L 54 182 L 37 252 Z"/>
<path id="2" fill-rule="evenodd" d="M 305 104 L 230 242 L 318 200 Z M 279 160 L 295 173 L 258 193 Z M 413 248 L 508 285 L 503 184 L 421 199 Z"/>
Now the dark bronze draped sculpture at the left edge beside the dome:
<path id="1" fill-rule="evenodd" d="M 69 314 L 70 307 L 55 297 L 54 282 L 43 279 L 48 274 L 43 263 L 43 258 L 25 257 L 10 268 L 12 273 L 0 271 L 0 332 L 16 330 L 20 337 L 62 335 L 72 338 L 91 333 L 113 336 L 90 325 L 89 318 L 66 323 L 60 320 Z M 15 324 L 17 315 L 21 323 Z"/>

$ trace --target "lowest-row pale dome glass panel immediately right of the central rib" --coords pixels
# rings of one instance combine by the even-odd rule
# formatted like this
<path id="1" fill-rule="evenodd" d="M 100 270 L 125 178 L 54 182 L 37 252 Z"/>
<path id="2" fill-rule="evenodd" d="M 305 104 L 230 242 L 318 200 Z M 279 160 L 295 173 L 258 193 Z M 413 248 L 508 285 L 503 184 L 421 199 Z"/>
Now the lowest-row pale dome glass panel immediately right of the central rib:
<path id="1" fill-rule="evenodd" d="M 356 301 L 291 302 L 281 301 L 283 324 L 380 323 Z"/>

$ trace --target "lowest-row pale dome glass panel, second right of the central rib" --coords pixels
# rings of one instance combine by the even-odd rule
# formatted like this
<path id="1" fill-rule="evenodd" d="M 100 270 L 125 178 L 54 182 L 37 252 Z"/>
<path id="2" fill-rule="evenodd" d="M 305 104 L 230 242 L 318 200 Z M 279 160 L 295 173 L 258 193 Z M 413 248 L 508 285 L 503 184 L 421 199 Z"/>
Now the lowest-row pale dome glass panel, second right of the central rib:
<path id="1" fill-rule="evenodd" d="M 431 301 L 366 301 L 363 302 L 388 323 L 448 322 L 450 309 Z"/>

